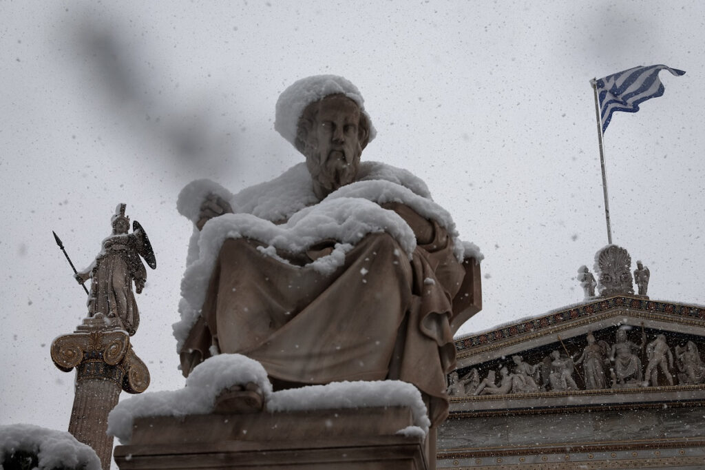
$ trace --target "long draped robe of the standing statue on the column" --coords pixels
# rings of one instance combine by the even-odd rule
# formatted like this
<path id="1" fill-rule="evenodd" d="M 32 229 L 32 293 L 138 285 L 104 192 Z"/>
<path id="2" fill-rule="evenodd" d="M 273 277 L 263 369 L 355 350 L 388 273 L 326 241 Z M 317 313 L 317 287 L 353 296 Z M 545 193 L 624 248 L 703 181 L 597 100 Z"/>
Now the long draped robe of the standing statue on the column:
<path id="1" fill-rule="evenodd" d="M 140 326 L 140 313 L 133 294 L 133 279 L 147 279 L 134 237 L 116 235 L 105 239 L 103 251 L 92 267 L 88 315 L 103 313 L 117 317 L 125 330 L 134 335 Z"/>

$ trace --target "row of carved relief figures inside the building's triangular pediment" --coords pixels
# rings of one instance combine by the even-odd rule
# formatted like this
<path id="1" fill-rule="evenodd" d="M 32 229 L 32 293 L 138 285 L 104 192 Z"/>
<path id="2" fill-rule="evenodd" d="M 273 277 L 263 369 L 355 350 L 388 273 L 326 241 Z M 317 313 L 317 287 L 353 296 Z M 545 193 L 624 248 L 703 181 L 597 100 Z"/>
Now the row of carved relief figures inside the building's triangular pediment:
<path id="1" fill-rule="evenodd" d="M 448 394 L 526 396 L 705 384 L 701 320 L 683 328 L 658 318 L 640 318 L 633 311 L 602 316 L 572 329 L 546 330 L 540 337 L 485 351 L 470 365 L 461 362 L 448 376 Z"/>

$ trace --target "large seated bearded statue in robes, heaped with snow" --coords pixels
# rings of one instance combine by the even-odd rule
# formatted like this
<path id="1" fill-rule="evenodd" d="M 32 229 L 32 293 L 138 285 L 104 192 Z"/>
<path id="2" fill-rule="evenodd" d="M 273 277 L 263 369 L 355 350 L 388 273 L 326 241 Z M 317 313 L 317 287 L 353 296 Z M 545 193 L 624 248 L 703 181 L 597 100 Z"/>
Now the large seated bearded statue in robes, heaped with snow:
<path id="1" fill-rule="evenodd" d="M 453 333 L 481 308 L 482 255 L 423 181 L 360 161 L 375 130 L 345 78 L 291 85 L 274 127 L 305 164 L 236 195 L 196 181 L 179 196 L 201 230 L 174 325 L 184 375 L 223 352 L 262 363 L 275 389 L 404 380 L 439 423 Z"/>

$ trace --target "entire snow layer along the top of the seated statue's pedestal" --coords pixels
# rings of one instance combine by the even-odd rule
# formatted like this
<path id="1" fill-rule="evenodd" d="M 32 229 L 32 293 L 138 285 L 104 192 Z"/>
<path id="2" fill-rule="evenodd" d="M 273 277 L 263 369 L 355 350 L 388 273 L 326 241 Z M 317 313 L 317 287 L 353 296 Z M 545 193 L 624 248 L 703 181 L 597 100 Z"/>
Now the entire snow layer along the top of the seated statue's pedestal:
<path id="1" fill-rule="evenodd" d="M 371 409 L 404 407 L 410 409 L 412 423 L 398 433 L 424 437 L 430 421 L 421 394 L 414 385 L 399 380 L 375 382 L 333 382 L 279 392 L 260 363 L 240 354 L 219 354 L 207 359 L 188 376 L 180 390 L 147 392 L 120 402 L 109 415 L 108 433 L 122 444 L 130 443 L 137 418 L 210 414 L 216 397 L 233 385 L 255 383 L 264 396 L 270 414 L 290 411 Z"/>

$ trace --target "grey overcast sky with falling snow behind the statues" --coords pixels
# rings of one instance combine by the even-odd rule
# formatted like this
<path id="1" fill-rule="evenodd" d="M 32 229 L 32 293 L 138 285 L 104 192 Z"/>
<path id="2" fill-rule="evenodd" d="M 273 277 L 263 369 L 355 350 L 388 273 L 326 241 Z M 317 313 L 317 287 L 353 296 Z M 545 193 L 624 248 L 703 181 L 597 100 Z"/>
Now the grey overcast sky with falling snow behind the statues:
<path id="1" fill-rule="evenodd" d="M 703 303 L 704 18 L 697 0 L 0 1 L 0 423 L 68 426 L 73 373 L 49 344 L 85 294 L 51 230 L 85 267 L 122 202 L 158 263 L 133 345 L 149 390 L 183 385 L 178 191 L 302 161 L 274 104 L 319 73 L 362 91 L 378 130 L 363 159 L 421 176 L 486 255 L 467 334 L 582 300 L 577 268 L 607 243 L 589 79 L 687 71 L 615 114 L 605 146 L 615 243 L 651 269 L 652 298 Z"/>

